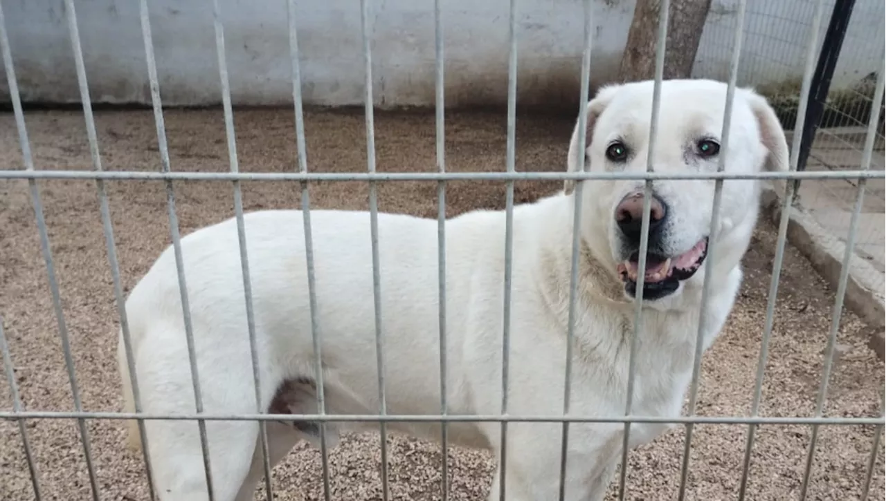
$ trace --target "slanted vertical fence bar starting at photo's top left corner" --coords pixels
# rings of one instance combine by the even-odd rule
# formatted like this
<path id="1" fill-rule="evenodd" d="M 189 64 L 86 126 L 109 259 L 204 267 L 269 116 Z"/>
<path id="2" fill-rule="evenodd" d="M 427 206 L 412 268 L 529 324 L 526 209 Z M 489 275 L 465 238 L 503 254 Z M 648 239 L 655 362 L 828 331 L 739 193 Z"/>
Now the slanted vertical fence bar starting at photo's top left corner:
<path id="1" fill-rule="evenodd" d="M 73 5 L 66 5 L 68 9 L 68 21 L 73 19 Z M 21 147 L 21 156 L 24 160 L 25 169 L 27 171 L 34 170 L 34 158 L 31 155 L 30 142 L 27 139 L 27 127 L 25 126 L 25 115 L 21 108 L 21 97 L 19 96 L 18 81 L 15 78 L 15 69 L 12 64 L 12 50 L 9 45 L 9 38 L 6 32 L 6 21 L 4 18 L 2 7 L 0 7 L 0 28 L 2 28 L 3 36 L 3 52 L 4 66 L 6 70 L 6 79 L 9 82 L 10 96 L 12 98 L 12 109 L 15 114 L 16 126 L 19 131 L 19 145 Z M 74 32 L 72 33 L 72 41 L 76 34 L 76 21 L 74 21 Z M 79 37 L 76 37 L 77 47 L 79 48 Z M 43 203 L 40 199 L 40 190 L 35 180 L 29 180 L 28 186 L 31 192 L 31 200 L 34 204 L 34 214 L 37 223 L 37 232 L 40 235 L 40 247 L 43 253 L 43 261 L 46 265 L 46 274 L 50 284 L 52 295 L 52 306 L 58 321 L 58 336 L 61 340 L 62 351 L 64 351 L 65 366 L 67 369 L 68 380 L 71 384 L 71 393 L 74 398 L 74 410 L 82 412 L 82 402 L 80 399 L 80 388 L 77 384 L 77 377 L 74 371 L 74 358 L 71 354 L 71 344 L 67 333 L 67 325 L 65 321 L 65 313 L 61 306 L 61 293 L 58 289 L 58 281 L 55 274 L 55 262 L 52 258 L 52 250 L 50 247 L 49 234 L 46 229 L 46 220 L 43 216 Z M 83 444 L 83 456 L 86 460 L 86 467 L 89 473 L 89 486 L 92 489 L 92 498 L 98 501 L 98 484 L 96 481 L 95 468 L 92 465 L 92 451 L 89 443 L 89 432 L 86 429 L 86 420 L 80 418 L 77 420 L 77 428 L 80 431 L 80 437 Z"/>

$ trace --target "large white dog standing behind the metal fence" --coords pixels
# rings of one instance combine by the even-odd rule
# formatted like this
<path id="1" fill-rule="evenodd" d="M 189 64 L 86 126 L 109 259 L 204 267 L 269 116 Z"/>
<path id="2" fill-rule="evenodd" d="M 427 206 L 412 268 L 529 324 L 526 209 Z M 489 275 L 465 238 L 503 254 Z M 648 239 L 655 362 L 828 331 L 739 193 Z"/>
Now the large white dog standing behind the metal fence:
<path id="1" fill-rule="evenodd" d="M 652 81 L 601 89 L 588 105 L 586 166 L 576 165 L 576 126 L 570 170 L 644 171 L 652 94 Z M 664 81 L 656 172 L 710 173 L 716 171 L 721 156 L 731 173 L 787 169 L 788 145 L 779 121 L 766 100 L 750 89 L 736 89 L 731 137 L 728 147 L 720 148 L 726 95 L 726 84 L 718 81 Z M 585 181 L 582 190 L 573 415 L 612 417 L 625 412 L 642 186 L 642 181 Z M 652 182 L 647 305 L 636 354 L 634 414 L 680 414 L 692 371 L 703 275 L 712 274 L 709 308 L 700 319 L 706 349 L 727 319 L 742 281 L 740 261 L 756 224 L 759 191 L 759 181 L 724 182 L 715 242 L 709 240 L 714 181 Z M 511 415 L 563 414 L 574 197 L 567 182 L 563 192 L 514 208 Z M 311 217 L 327 412 L 377 413 L 369 213 L 315 211 Z M 302 215 L 299 211 L 249 213 L 245 234 L 264 410 L 315 413 L 315 351 Z M 505 213 L 501 211 L 468 212 L 447 221 L 446 356 L 451 414 L 501 412 L 504 235 Z M 715 260 L 706 268 L 707 247 L 714 244 Z M 437 224 L 406 215 L 378 214 L 378 245 L 387 412 L 439 414 Z M 235 220 L 187 235 L 182 249 L 205 412 L 254 413 Z M 132 290 L 127 312 L 144 412 L 194 412 L 171 248 Z M 126 408 L 131 412 L 122 343 L 119 363 Z M 136 421 L 128 422 L 130 443 L 138 447 Z M 206 499 L 197 423 L 146 420 L 145 426 L 160 499 Z M 327 435 L 335 443 L 344 429 L 377 428 L 377 423 L 330 423 Z M 630 446 L 649 443 L 667 428 L 635 424 Z M 440 425 L 392 422 L 389 429 L 439 439 Z M 562 429 L 556 422 L 510 424 L 507 499 L 558 498 Z M 620 458 L 623 429 L 619 423 L 571 425 L 566 499 L 602 499 Z M 299 440 L 316 443 L 318 430 L 318 423 L 269 422 L 272 464 Z M 455 445 L 483 448 L 496 455 L 501 451 L 498 422 L 454 422 L 449 430 Z M 259 425 L 246 420 L 209 420 L 206 433 L 214 498 L 252 499 L 263 472 Z M 498 496 L 496 480 L 489 499 Z"/>

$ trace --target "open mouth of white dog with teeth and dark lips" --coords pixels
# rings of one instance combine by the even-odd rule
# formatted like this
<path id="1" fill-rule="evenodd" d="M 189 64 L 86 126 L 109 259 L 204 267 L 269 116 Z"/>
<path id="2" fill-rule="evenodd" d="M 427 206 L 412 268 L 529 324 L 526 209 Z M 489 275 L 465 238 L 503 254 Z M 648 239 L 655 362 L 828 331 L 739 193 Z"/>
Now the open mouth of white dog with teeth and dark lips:
<path id="1" fill-rule="evenodd" d="M 702 267 L 708 251 L 708 238 L 699 240 L 692 249 L 679 256 L 664 257 L 655 253 L 646 255 L 646 277 L 643 297 L 656 299 L 671 294 L 680 286 L 680 281 L 688 280 Z M 630 258 L 618 264 L 618 274 L 625 282 L 625 290 L 633 296 L 637 289 L 640 254 L 634 251 Z"/>

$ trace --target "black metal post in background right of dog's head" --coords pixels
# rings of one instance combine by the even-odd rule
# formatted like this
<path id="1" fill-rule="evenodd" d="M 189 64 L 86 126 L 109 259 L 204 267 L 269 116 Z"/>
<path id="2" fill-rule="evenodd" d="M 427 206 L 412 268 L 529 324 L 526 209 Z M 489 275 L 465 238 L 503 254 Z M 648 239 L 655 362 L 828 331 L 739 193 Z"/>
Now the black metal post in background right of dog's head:
<path id="1" fill-rule="evenodd" d="M 812 143 L 815 141 L 815 133 L 821 125 L 824 117 L 825 102 L 828 100 L 830 82 L 834 77 L 836 60 L 840 57 L 843 48 L 843 38 L 846 36 L 846 27 L 852 17 L 852 8 L 855 0 L 836 0 L 831 18 L 828 21 L 828 31 L 825 39 L 821 42 L 818 64 L 815 73 L 812 73 L 812 85 L 809 87 L 809 102 L 806 105 L 806 114 L 803 122 L 802 139 L 800 141 L 799 159 L 797 171 L 804 171 L 809 153 L 812 151 Z M 794 127 L 797 134 L 797 127 Z M 794 181 L 794 197 L 800 189 L 800 180 Z"/>

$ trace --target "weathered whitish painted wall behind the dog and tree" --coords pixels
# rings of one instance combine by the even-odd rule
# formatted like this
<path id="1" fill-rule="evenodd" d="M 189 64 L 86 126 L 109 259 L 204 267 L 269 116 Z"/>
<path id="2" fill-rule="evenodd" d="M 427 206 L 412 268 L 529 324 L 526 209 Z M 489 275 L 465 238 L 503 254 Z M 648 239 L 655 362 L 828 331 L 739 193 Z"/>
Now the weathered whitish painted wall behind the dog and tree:
<path id="1" fill-rule="evenodd" d="M 78 102 L 62 0 L 2 0 L 19 89 L 27 101 Z M 713 0 L 696 76 L 725 79 L 738 0 Z M 593 0 L 592 82 L 613 78 L 634 0 Z M 286 0 L 219 0 L 234 104 L 290 104 Z M 833 0 L 828 2 L 829 5 Z M 75 0 L 91 96 L 96 103 L 150 103 L 137 0 Z M 150 0 L 164 104 L 216 104 L 221 86 L 211 0 Z M 306 104 L 361 104 L 359 0 L 295 0 Z M 375 103 L 434 103 L 432 0 L 370 2 Z M 507 97 L 509 0 L 445 0 L 447 105 L 501 104 Z M 576 102 L 583 0 L 518 0 L 518 99 Z M 802 74 L 813 0 L 750 0 L 742 83 Z M 825 19 L 827 22 L 827 19 Z M 834 85 L 877 67 L 886 45 L 886 3 L 858 0 Z M 823 29 L 822 29 L 823 34 Z M 0 73 L 4 73 L 0 70 Z M 0 99 L 9 99 L 5 74 Z"/>

